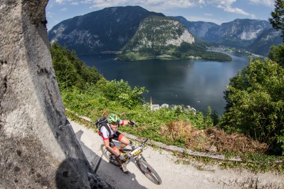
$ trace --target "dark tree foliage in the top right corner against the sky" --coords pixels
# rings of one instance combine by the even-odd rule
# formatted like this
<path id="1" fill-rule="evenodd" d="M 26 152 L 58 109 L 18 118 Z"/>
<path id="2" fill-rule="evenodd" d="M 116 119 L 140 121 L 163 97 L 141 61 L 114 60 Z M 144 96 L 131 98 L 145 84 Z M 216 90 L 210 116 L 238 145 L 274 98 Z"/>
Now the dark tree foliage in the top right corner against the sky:
<path id="1" fill-rule="evenodd" d="M 269 18 L 269 22 L 272 27 L 276 30 L 281 30 L 281 37 L 283 37 L 284 42 L 284 1 L 275 0 L 274 12 L 271 12 L 272 18 Z"/>

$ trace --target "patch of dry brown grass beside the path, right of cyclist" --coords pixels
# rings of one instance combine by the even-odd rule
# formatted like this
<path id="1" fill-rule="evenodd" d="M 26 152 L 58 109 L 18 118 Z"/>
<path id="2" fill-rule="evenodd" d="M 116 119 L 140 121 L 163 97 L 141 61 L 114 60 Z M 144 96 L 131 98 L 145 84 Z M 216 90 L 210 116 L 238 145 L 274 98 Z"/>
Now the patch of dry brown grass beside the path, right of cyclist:
<path id="1" fill-rule="evenodd" d="M 265 143 L 254 141 L 240 133 L 228 135 L 216 127 L 198 130 L 184 121 L 171 122 L 161 128 L 161 134 L 167 139 L 184 143 L 193 150 L 211 152 L 234 152 L 265 154 L 268 146 Z"/>

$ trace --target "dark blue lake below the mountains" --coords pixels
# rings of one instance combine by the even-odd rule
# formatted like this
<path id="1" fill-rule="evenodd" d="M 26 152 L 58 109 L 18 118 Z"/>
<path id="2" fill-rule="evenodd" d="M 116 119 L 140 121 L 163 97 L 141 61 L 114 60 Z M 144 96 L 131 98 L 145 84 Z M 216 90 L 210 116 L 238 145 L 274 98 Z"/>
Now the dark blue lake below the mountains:
<path id="1" fill-rule="evenodd" d="M 210 106 L 222 115 L 226 105 L 224 91 L 229 79 L 249 64 L 246 56 L 229 54 L 232 61 L 143 60 L 114 61 L 115 54 L 79 56 L 95 66 L 108 80 L 124 79 L 129 85 L 144 86 L 145 100 L 153 103 L 191 106 L 205 112 Z"/>

